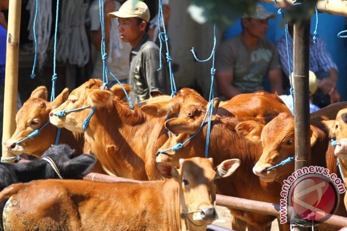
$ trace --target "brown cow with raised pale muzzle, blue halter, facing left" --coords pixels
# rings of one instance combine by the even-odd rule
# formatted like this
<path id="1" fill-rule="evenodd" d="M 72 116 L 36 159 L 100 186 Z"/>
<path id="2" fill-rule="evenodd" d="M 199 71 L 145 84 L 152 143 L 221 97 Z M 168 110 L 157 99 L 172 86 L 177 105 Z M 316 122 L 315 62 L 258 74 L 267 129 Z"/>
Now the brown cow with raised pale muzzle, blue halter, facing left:
<path id="1" fill-rule="evenodd" d="M 155 168 L 155 152 L 168 137 L 163 126 L 166 116 L 154 117 L 136 105 L 130 109 L 129 103 L 114 97 L 110 91 L 101 90 L 101 85 L 101 80 L 90 79 L 73 90 L 64 104 L 52 110 L 51 123 L 83 132 L 82 123 L 91 108 L 64 117 L 54 113 L 96 106 L 84 136 L 105 171 L 109 175 L 137 180 L 161 179 Z"/>

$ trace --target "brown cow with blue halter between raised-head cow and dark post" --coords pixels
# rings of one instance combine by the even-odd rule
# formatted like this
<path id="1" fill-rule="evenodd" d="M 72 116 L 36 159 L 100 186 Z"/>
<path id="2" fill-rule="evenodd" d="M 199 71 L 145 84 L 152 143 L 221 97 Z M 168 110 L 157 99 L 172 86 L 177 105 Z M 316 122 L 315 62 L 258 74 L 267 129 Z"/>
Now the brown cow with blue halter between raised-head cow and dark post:
<path id="1" fill-rule="evenodd" d="M 176 97 L 176 96 L 175 96 Z M 177 108 L 185 108 L 180 110 L 178 118 L 169 119 L 165 126 L 171 131 L 169 140 L 158 150 L 160 151 L 171 148 L 177 143 L 183 143 L 188 137 L 194 134 L 200 127 L 205 112 L 206 101 L 199 104 L 192 102 L 185 106 L 186 101 L 178 101 L 175 99 L 170 111 L 170 104 L 163 106 L 159 104 L 145 106 L 145 109 L 151 108 L 159 113 L 176 113 Z M 180 97 L 179 95 L 177 97 Z M 183 105 L 180 105 L 183 104 Z M 156 108 L 156 109 L 155 109 Z M 234 128 L 240 122 L 239 118 L 212 116 L 211 141 L 209 146 L 209 157 L 215 160 L 215 164 L 229 158 L 239 158 L 241 160 L 241 168 L 239 168 L 233 176 L 221 181 L 217 184 L 218 193 L 228 196 L 236 196 L 258 201 L 279 203 L 281 185 L 278 183 L 264 183 L 263 181 L 253 177 L 252 167 L 260 157 L 262 147 L 260 144 L 250 142 L 240 137 Z M 182 149 L 176 151 L 167 151 L 159 154 L 157 161 L 170 161 L 178 164 L 179 158 L 189 158 L 204 156 L 206 142 L 206 123 L 202 130 L 189 141 Z M 271 189 L 271 190 L 270 190 Z M 257 214 L 247 211 L 231 209 L 239 219 L 248 223 L 248 230 L 264 230 L 276 217 L 264 214 Z M 236 224 L 236 220 L 232 220 L 233 229 L 244 230 L 246 224 L 240 222 Z M 239 222 L 239 220 L 237 220 Z"/>

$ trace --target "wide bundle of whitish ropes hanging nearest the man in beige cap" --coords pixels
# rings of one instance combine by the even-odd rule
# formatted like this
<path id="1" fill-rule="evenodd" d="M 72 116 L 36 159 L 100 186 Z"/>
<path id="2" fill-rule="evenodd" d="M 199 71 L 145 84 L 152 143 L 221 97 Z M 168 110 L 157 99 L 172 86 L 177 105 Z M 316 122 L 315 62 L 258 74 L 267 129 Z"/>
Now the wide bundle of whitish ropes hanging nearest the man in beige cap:
<path id="1" fill-rule="evenodd" d="M 57 42 L 57 60 L 84 66 L 89 61 L 90 50 L 85 30 L 88 4 L 83 0 L 63 0 L 59 39 Z"/>

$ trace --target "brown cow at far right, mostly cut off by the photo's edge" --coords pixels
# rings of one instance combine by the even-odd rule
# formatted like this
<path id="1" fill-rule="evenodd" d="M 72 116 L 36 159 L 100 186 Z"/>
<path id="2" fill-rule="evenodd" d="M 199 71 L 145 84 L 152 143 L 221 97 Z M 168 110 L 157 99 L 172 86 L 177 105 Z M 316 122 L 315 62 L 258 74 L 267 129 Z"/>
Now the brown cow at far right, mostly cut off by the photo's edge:
<path id="1" fill-rule="evenodd" d="M 335 120 L 324 121 L 323 123 L 327 125 L 330 137 L 336 138 L 339 143 L 336 145 L 335 155 L 339 159 L 344 184 L 347 187 L 347 108 L 340 110 Z M 347 194 L 345 194 L 344 202 L 347 209 Z"/>

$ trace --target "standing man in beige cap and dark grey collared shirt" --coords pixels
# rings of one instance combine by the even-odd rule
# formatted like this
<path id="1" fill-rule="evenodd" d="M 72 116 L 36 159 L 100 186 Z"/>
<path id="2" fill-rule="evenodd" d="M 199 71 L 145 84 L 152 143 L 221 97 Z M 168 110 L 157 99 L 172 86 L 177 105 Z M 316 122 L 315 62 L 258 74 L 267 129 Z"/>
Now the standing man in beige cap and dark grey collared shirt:
<path id="1" fill-rule="evenodd" d="M 170 80 L 163 59 L 162 69 L 157 71 L 159 47 L 148 34 L 150 12 L 147 5 L 140 1 L 133 5 L 132 0 L 128 0 L 118 11 L 109 13 L 108 17 L 118 17 L 120 38 L 132 46 L 129 73 L 132 102 L 137 104 L 150 97 L 169 94 Z"/>

